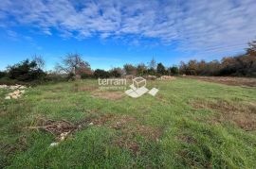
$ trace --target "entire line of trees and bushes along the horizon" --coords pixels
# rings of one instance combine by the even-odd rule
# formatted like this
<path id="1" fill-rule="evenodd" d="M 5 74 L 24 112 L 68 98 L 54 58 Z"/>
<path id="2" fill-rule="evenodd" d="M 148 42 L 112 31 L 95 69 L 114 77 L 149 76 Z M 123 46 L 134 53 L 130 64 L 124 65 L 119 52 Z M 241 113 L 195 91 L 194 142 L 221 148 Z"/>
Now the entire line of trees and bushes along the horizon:
<path id="1" fill-rule="evenodd" d="M 46 81 L 75 80 L 77 78 L 107 78 L 119 76 L 256 76 L 256 41 L 249 42 L 244 55 L 226 57 L 222 60 L 181 61 L 179 67 L 166 67 L 152 59 L 145 63 L 125 64 L 109 71 L 92 70 L 90 64 L 79 54 L 67 54 L 54 71 L 44 71 L 45 61 L 40 56 L 26 59 L 0 71 L 0 83 L 43 83 Z"/>

